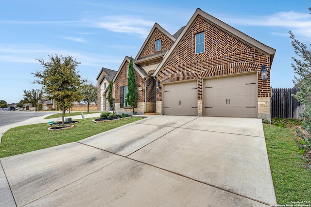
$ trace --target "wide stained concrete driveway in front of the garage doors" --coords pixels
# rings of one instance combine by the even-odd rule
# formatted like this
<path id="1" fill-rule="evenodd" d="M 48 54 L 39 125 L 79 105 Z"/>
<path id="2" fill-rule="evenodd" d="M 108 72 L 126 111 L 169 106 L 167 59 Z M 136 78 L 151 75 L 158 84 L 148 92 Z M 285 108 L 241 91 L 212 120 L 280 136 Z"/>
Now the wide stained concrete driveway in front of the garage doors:
<path id="1" fill-rule="evenodd" d="M 260 119 L 151 116 L 0 162 L 6 207 L 276 204 Z"/>

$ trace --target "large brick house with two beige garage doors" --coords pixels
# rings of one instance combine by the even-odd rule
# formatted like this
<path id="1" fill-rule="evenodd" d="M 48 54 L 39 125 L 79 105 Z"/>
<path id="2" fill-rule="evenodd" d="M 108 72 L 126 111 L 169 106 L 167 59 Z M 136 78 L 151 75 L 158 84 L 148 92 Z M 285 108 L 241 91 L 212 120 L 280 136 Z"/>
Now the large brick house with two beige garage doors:
<path id="1" fill-rule="evenodd" d="M 271 120 L 276 50 L 197 9 L 174 35 L 155 23 L 136 58 L 137 113 Z M 128 112 L 125 57 L 113 79 L 115 108 Z"/>

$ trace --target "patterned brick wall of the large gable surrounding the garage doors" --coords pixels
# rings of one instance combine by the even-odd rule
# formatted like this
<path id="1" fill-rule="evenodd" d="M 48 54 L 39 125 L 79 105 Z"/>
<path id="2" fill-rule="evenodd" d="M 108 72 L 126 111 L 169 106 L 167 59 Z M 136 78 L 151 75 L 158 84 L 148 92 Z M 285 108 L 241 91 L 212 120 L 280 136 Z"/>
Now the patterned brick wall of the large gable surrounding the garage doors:
<path id="1" fill-rule="evenodd" d="M 205 52 L 195 54 L 194 35 L 205 33 Z M 267 80 L 261 80 L 260 69 L 267 68 Z M 202 99 L 202 80 L 248 71 L 258 71 L 258 97 L 270 97 L 270 58 L 233 35 L 199 16 L 158 73 L 160 83 L 198 81 L 198 100 Z M 156 101 L 162 100 L 162 88 Z"/>

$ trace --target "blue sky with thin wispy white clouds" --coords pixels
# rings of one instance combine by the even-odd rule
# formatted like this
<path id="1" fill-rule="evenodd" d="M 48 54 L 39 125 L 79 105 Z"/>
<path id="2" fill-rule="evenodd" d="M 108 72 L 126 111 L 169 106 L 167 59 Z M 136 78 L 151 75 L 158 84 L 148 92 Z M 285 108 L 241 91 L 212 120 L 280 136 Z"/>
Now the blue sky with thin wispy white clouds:
<path id="1" fill-rule="evenodd" d="M 289 31 L 311 43 L 311 0 L 3 0 L 0 2 L 0 100 L 18 103 L 40 89 L 38 59 L 72 56 L 83 79 L 97 83 L 102 67 L 118 70 L 136 57 L 155 22 L 174 34 L 197 8 L 276 49 L 273 88 L 292 88 Z M 310 47 L 309 47 L 310 48 Z"/>

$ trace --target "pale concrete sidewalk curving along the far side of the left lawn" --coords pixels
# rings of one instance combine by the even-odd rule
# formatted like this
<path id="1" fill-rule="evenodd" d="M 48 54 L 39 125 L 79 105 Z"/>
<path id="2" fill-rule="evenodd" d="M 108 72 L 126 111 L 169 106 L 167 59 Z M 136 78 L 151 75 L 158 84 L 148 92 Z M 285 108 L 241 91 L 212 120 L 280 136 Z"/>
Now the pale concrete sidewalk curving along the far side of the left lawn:
<path id="1" fill-rule="evenodd" d="M 91 113 L 91 114 L 85 114 L 85 118 L 91 118 L 91 117 L 100 117 L 102 112 L 98 112 L 98 113 Z M 0 145 L 1 145 L 1 137 L 2 135 L 9 130 L 10 128 L 14 128 L 14 127 L 19 127 L 19 126 L 25 126 L 25 125 L 33 125 L 33 124 L 40 124 L 40 123 L 48 123 L 49 121 L 54 121 L 54 122 L 59 122 L 62 121 L 62 117 L 60 118 L 53 118 L 53 119 L 44 119 L 47 116 L 50 116 L 54 113 L 49 113 L 43 116 L 37 116 L 37 117 L 33 117 L 30 119 L 27 119 L 25 121 L 21 121 L 21 122 L 17 122 L 14 124 L 9 124 L 9 125 L 5 125 L 0 127 Z M 67 113 L 68 114 L 68 113 Z M 66 116 L 66 118 L 72 118 L 72 119 L 82 119 L 81 115 L 77 115 L 77 116 Z"/>

